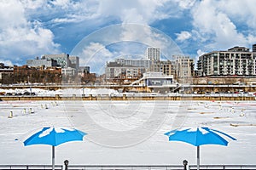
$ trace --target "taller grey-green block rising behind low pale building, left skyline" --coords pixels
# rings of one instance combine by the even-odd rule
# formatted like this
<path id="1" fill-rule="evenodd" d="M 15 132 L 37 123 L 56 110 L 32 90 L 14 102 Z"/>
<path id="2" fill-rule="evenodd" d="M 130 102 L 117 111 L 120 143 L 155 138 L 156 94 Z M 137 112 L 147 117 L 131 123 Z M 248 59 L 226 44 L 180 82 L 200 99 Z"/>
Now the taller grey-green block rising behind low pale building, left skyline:
<path id="1" fill-rule="evenodd" d="M 44 54 L 41 59 L 55 59 L 61 68 L 70 67 L 69 54 Z"/>

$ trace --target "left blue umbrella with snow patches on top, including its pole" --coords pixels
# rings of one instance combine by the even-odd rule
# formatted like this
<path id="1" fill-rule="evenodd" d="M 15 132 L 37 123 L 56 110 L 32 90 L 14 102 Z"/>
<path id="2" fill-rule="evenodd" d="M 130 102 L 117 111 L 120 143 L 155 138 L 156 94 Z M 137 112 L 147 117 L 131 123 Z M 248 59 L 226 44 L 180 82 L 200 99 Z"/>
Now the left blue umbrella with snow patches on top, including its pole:
<path id="1" fill-rule="evenodd" d="M 37 133 L 26 139 L 24 145 L 52 145 L 52 167 L 55 169 L 55 146 L 70 141 L 83 140 L 86 133 L 72 127 L 43 127 Z"/>

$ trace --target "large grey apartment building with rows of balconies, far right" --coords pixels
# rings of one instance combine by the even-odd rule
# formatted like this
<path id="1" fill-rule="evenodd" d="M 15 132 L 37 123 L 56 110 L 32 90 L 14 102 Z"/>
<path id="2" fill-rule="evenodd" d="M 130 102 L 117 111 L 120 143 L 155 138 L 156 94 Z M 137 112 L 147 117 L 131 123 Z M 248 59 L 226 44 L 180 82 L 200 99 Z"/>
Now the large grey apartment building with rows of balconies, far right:
<path id="1" fill-rule="evenodd" d="M 255 65 L 256 52 L 250 52 L 248 48 L 244 47 L 203 54 L 197 62 L 199 76 L 201 77 L 255 77 Z"/>

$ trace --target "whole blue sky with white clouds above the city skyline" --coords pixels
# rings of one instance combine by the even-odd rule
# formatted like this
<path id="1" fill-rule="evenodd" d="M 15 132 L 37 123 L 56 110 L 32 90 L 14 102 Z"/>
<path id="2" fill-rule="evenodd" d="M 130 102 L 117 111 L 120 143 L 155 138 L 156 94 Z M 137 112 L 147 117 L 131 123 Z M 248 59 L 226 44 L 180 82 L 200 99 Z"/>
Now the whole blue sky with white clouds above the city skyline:
<path id="1" fill-rule="evenodd" d="M 255 8 L 254 0 L 0 0 L 0 63 L 65 53 L 96 71 L 109 59 L 143 56 L 147 47 L 195 60 L 213 50 L 251 49 Z"/>

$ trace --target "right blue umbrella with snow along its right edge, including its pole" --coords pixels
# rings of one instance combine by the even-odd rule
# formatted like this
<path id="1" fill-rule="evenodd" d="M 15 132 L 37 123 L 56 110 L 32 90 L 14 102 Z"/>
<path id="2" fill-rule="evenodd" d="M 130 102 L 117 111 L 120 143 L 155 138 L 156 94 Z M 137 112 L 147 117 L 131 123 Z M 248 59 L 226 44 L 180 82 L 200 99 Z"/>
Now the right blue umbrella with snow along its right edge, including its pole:
<path id="1" fill-rule="evenodd" d="M 182 141 L 197 146 L 197 169 L 200 165 L 200 145 L 228 145 L 229 140 L 236 140 L 230 135 L 208 127 L 175 129 L 165 133 L 169 141 Z"/>

